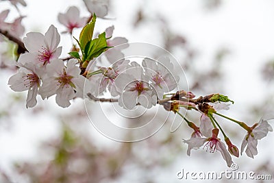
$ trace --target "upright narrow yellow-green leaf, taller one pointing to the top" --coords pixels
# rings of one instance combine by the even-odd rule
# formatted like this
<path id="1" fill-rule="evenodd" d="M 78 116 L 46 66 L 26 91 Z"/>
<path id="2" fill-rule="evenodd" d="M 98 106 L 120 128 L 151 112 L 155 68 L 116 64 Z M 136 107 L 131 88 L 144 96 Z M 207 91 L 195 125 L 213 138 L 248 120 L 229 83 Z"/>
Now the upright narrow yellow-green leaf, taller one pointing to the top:
<path id="1" fill-rule="evenodd" d="M 92 40 L 93 30 L 95 27 L 96 15 L 93 14 L 92 21 L 88 23 L 81 31 L 79 36 L 79 43 L 82 48 L 86 47 L 86 44 Z"/>

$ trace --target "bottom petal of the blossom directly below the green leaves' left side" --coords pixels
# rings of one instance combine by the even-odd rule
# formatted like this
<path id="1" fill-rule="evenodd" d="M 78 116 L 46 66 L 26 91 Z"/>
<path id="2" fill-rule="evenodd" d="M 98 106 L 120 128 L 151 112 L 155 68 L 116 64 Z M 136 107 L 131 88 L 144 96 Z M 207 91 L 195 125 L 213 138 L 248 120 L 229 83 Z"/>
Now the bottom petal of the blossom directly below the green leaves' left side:
<path id="1" fill-rule="evenodd" d="M 63 86 L 58 88 L 56 92 L 55 100 L 58 106 L 61 106 L 62 108 L 69 107 L 71 105 L 69 101 L 75 97 L 73 88 L 71 88 L 71 86 Z"/>

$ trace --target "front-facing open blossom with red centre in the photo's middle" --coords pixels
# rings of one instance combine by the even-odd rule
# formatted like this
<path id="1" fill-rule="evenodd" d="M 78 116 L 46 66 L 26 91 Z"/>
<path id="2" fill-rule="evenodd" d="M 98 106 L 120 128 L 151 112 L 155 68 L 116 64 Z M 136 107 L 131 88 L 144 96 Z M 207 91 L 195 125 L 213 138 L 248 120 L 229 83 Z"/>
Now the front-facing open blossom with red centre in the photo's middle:
<path id="1" fill-rule="evenodd" d="M 115 84 L 117 88 L 123 90 L 119 97 L 120 106 L 132 109 L 140 103 L 145 108 L 151 108 L 157 102 L 157 97 L 149 86 L 149 78 L 144 75 L 142 67 L 136 62 L 131 63 L 127 73 L 122 73 L 116 78 Z"/>

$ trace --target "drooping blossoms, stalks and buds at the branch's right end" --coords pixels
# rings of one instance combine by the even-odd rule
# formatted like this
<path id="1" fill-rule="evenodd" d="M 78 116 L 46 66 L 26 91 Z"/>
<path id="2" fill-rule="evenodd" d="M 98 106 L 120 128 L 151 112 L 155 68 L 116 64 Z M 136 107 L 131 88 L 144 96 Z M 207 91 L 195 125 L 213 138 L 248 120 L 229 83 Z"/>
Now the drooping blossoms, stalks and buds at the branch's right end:
<path id="1" fill-rule="evenodd" d="M 227 102 L 231 100 L 228 99 L 227 96 L 213 94 L 206 97 L 199 97 L 198 99 L 194 98 L 195 95 L 191 92 L 181 90 L 171 96 L 171 101 L 162 104 L 166 110 L 179 114 L 184 121 L 186 121 L 188 126 L 194 130 L 190 139 L 183 139 L 183 143 L 188 144 L 188 156 L 190 156 L 191 149 L 199 149 L 199 147 L 203 146 L 203 149 L 206 149 L 206 151 L 210 151 L 211 153 L 214 153 L 214 151 L 220 151 L 223 159 L 227 162 L 227 166 L 231 167 L 233 163 L 231 155 L 238 158 L 239 154 L 242 155 L 242 152 L 245 151 L 247 156 L 253 158 L 253 156 L 258 154 L 258 140 L 264 138 L 268 132 L 273 131 L 273 128 L 269 125 L 269 122 L 264 119 L 261 119 L 259 123 L 255 123 L 249 127 L 244 122 L 236 121 L 235 119 L 231 119 L 223 114 L 220 114 L 218 112 L 219 110 L 229 109 L 229 104 Z M 234 101 L 231 102 L 234 103 Z M 200 112 L 201 117 L 199 127 L 197 127 L 195 123 L 192 123 L 186 119 L 186 117 L 182 116 L 182 114 L 179 113 L 179 108 L 186 108 L 186 110 L 197 110 Z M 232 144 L 214 115 L 219 115 L 225 119 L 229 119 L 247 131 L 247 134 L 242 141 L 240 153 L 238 147 Z M 223 134 L 223 141 L 226 143 L 227 147 L 221 138 L 219 138 L 220 130 Z"/>

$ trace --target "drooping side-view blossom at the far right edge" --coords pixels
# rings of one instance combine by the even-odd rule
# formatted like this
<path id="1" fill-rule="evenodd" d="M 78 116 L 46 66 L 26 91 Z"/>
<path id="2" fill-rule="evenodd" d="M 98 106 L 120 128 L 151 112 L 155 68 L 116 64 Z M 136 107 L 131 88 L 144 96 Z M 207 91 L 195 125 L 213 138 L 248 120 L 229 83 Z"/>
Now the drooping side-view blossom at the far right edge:
<path id="1" fill-rule="evenodd" d="M 260 123 L 255 123 L 251 127 L 251 131 L 247 132 L 247 135 L 242 141 L 242 145 L 240 148 L 240 154 L 245 150 L 245 153 L 250 158 L 253 158 L 255 155 L 258 154 L 257 145 L 258 140 L 264 138 L 268 132 L 272 132 L 273 129 L 271 125 L 265 120 L 261 120 Z M 247 147 L 247 149 L 245 149 Z"/>

